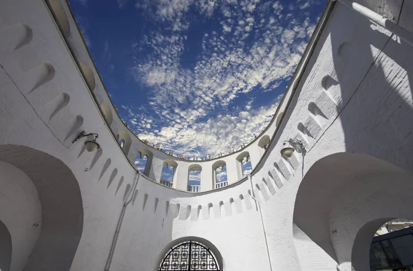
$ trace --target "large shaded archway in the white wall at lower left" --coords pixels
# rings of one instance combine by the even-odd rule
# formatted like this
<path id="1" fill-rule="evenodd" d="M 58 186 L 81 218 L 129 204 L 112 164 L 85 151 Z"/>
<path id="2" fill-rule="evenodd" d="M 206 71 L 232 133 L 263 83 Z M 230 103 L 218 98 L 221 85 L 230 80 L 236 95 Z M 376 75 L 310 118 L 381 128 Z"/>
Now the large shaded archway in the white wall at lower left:
<path id="1" fill-rule="evenodd" d="M 12 268 L 70 270 L 83 230 L 81 191 L 72 171 L 52 155 L 11 144 L 0 145 L 0 166 L 0 220 L 10 229 Z"/>

